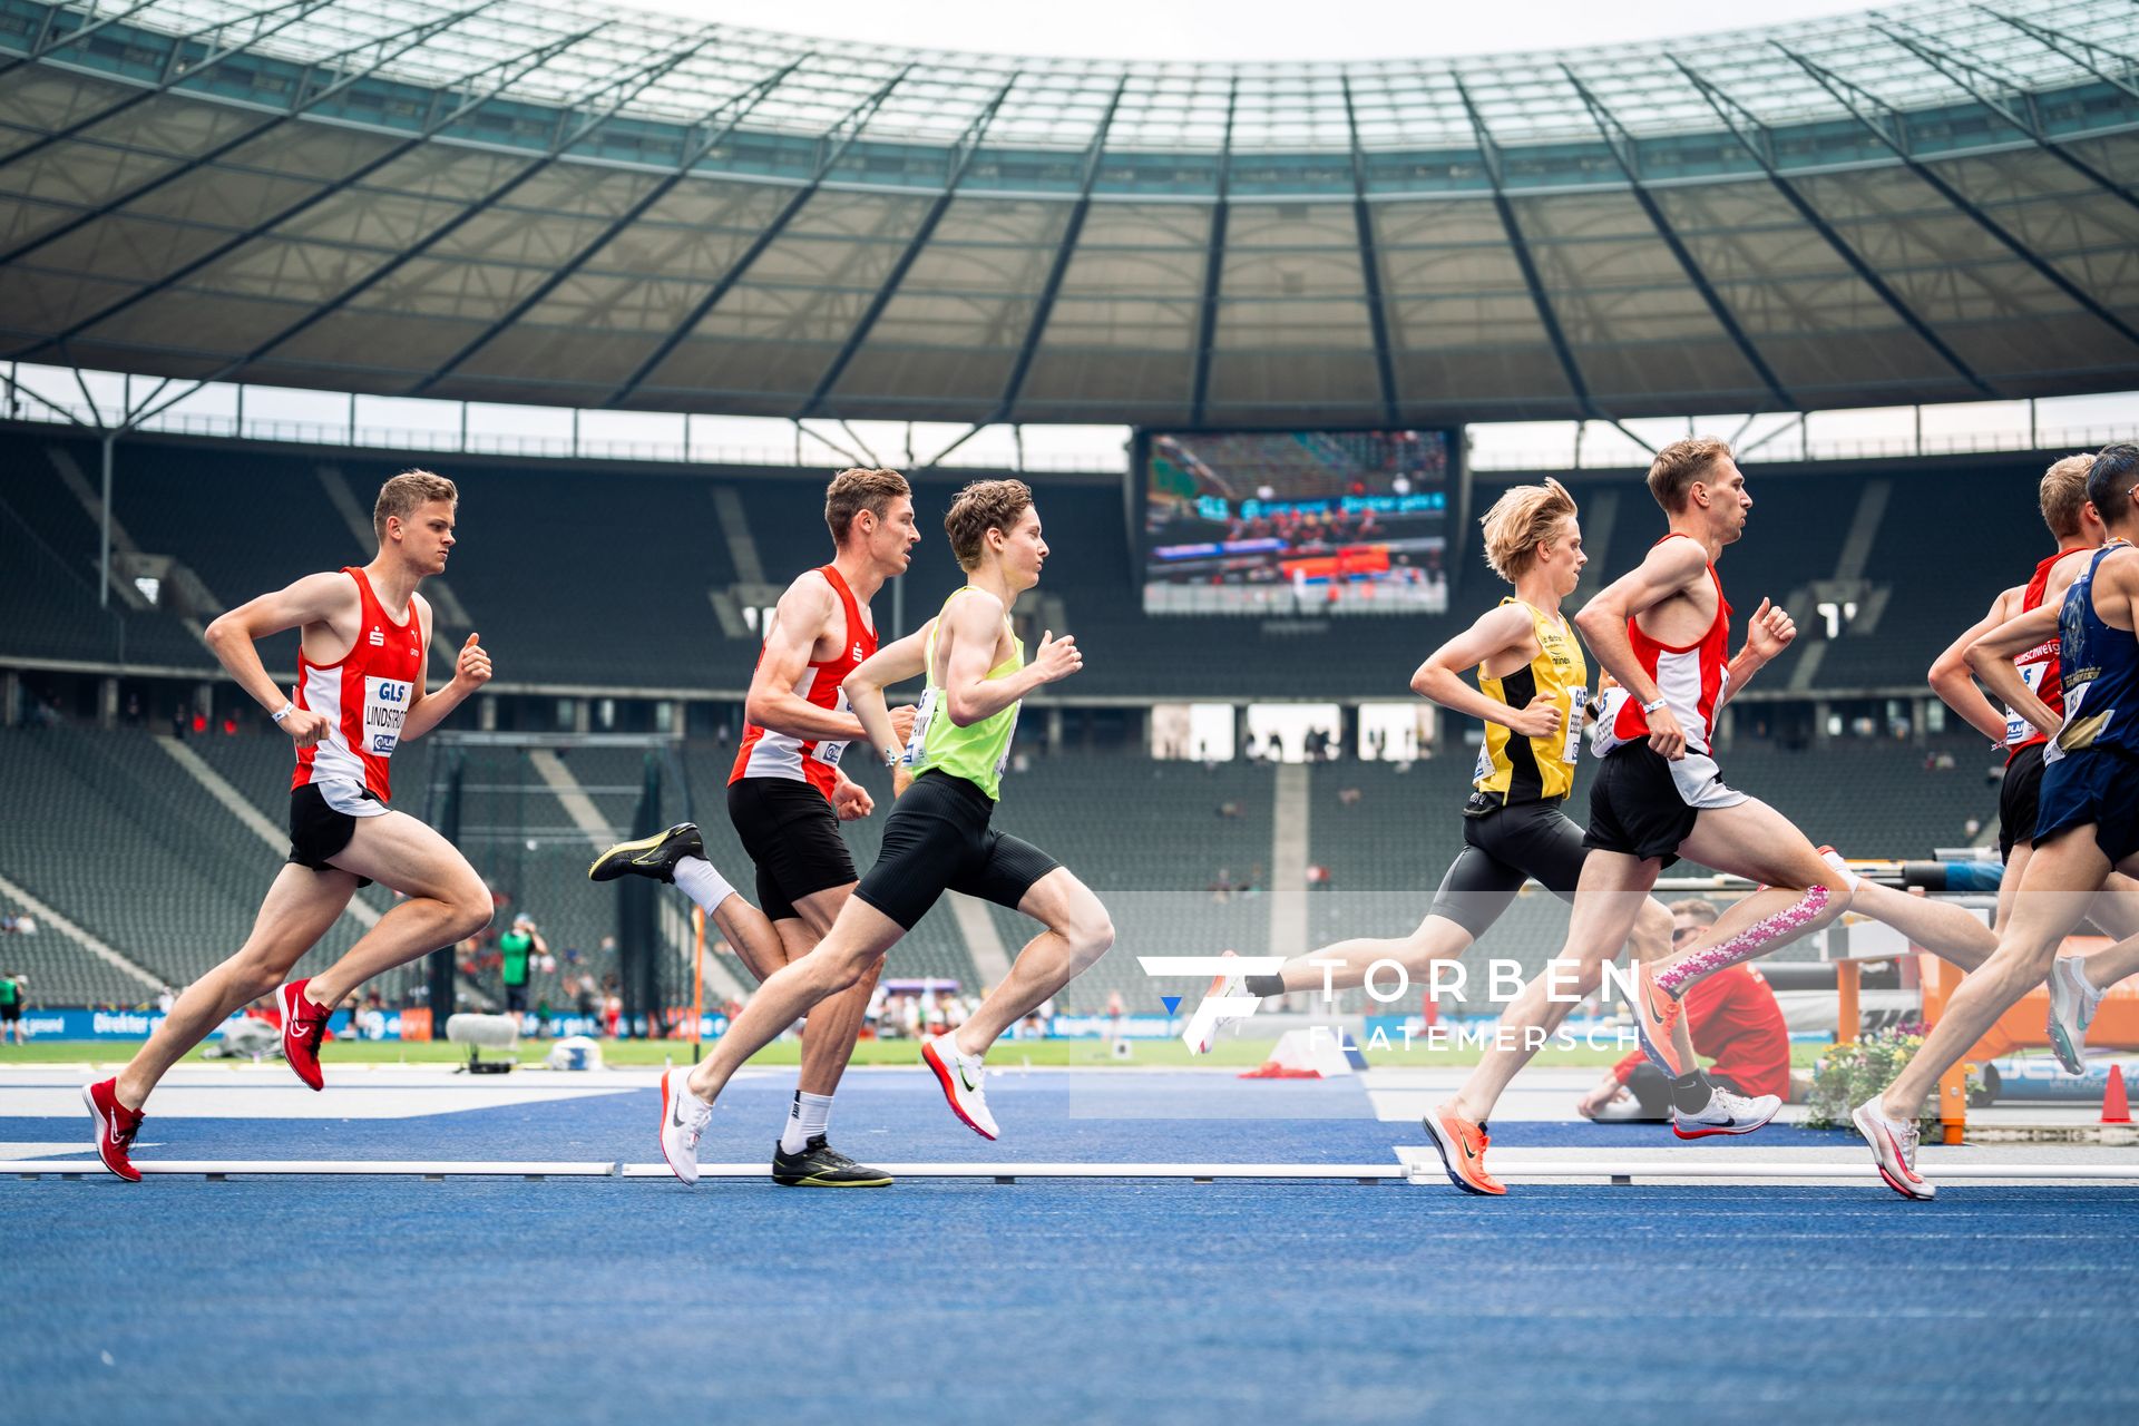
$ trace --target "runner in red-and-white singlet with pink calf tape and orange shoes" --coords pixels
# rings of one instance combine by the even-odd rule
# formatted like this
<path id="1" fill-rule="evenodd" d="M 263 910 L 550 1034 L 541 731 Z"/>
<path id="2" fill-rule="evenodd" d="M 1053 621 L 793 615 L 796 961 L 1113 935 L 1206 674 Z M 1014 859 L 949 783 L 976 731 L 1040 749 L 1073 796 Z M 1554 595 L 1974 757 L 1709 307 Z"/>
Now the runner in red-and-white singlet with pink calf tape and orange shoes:
<path id="1" fill-rule="evenodd" d="M 1797 626 L 1763 599 L 1745 646 L 1728 654 L 1730 605 L 1715 560 L 1743 537 L 1752 496 L 1726 443 L 1694 438 L 1664 447 L 1649 466 L 1649 494 L 1671 530 L 1638 569 L 1574 616 L 1626 697 L 1606 703 L 1591 738 L 1604 761 L 1589 785 L 1583 838 L 1589 857 L 1566 947 L 1502 1011 L 1493 1048 L 1457 1097 L 1425 1116 L 1448 1178 L 1469 1193 L 1506 1193 L 1484 1167 L 1487 1116 L 1568 1013 L 1576 988 L 1596 983 L 1658 874 L 1681 853 L 1760 889 L 1692 947 L 1636 966 L 1634 1028 L 1649 1060 L 1675 1082 L 1690 1065 L 1679 1048 L 1679 996 L 1711 971 L 1818 930 L 1859 892 L 1878 904 L 1874 915 L 1951 960 L 1976 964 L 1987 954 L 1989 930 L 1959 906 L 1859 883 L 1786 817 L 1724 782 L 1709 750 L 1715 710 L 1797 637 Z"/>

